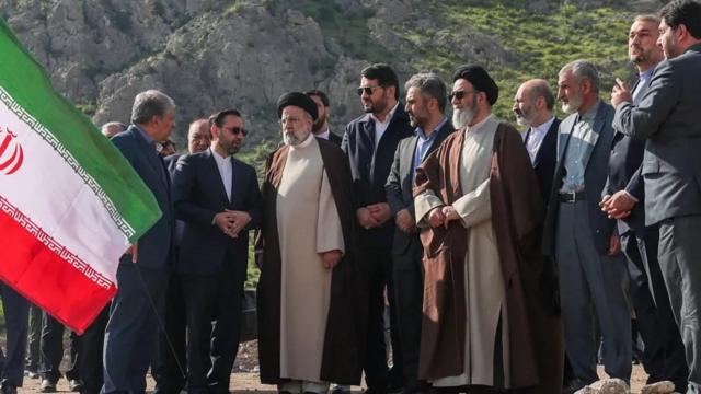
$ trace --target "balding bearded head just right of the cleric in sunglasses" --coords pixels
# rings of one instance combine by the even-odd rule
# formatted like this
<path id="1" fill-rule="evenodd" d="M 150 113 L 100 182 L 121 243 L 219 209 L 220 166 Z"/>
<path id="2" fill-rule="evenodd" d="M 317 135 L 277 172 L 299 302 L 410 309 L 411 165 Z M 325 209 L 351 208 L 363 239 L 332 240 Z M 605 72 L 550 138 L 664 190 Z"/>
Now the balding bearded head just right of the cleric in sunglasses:
<path id="1" fill-rule="evenodd" d="M 532 79 L 524 82 L 514 96 L 513 111 L 521 126 L 540 126 L 552 117 L 555 97 L 548 81 Z"/>

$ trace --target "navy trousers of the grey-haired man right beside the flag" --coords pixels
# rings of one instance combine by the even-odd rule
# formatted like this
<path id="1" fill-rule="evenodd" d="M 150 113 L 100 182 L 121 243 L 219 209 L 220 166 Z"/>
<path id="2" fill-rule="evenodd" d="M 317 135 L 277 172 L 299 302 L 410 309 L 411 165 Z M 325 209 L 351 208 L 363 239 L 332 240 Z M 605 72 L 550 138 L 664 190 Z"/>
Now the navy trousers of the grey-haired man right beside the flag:
<path id="1" fill-rule="evenodd" d="M 168 277 L 165 268 L 119 264 L 118 290 L 105 328 L 103 393 L 146 390 L 146 373 L 161 318 L 157 313 L 162 315 L 154 305 L 165 293 Z"/>

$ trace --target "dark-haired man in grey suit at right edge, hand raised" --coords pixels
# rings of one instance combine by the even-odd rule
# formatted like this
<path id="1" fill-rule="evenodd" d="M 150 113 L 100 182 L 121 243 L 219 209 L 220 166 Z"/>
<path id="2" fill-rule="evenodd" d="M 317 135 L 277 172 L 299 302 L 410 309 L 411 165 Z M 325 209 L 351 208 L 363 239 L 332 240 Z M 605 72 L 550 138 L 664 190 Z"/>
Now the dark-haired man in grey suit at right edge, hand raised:
<path id="1" fill-rule="evenodd" d="M 617 81 L 614 127 L 644 138 L 641 174 L 645 225 L 659 225 L 658 259 L 689 364 L 688 393 L 701 391 L 701 3 L 676 0 L 660 11 L 667 58 L 641 97 Z M 656 294 L 655 294 L 656 296 Z"/>

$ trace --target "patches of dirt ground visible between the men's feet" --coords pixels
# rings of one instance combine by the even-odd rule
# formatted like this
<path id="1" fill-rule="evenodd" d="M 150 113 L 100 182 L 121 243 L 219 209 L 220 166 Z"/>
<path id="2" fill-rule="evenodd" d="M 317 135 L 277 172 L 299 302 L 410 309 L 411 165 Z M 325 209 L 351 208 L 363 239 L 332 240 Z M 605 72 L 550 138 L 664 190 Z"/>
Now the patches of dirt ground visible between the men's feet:
<path id="1" fill-rule="evenodd" d="M 66 364 L 68 360 L 64 360 Z M 599 367 L 599 375 L 606 376 L 602 367 Z M 639 394 L 644 385 L 647 375 L 641 366 L 633 366 L 633 375 L 631 378 L 631 394 Z M 24 386 L 19 390 L 20 393 L 38 393 L 41 379 L 24 379 Z M 149 375 L 147 379 L 147 390 L 153 391 L 154 382 Z M 239 350 L 237 363 L 234 364 L 234 373 L 231 374 L 231 385 L 233 393 L 273 393 L 276 387 L 272 385 L 261 384 L 257 373 L 257 343 L 255 340 L 244 343 Z M 68 393 L 68 381 L 61 379 L 58 382 L 58 392 Z M 354 392 L 360 392 L 361 387 L 353 387 Z"/>

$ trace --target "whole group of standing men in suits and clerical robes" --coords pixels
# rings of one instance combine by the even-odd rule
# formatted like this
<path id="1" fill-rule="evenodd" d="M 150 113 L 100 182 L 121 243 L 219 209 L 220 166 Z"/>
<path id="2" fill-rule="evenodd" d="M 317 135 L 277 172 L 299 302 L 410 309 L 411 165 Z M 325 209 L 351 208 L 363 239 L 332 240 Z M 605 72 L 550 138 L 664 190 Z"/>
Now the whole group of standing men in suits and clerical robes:
<path id="1" fill-rule="evenodd" d="M 475 65 L 450 93 L 412 76 L 405 103 L 389 66 L 363 69 L 366 114 L 343 138 L 323 92 L 284 94 L 261 187 L 235 158 L 239 111 L 194 120 L 174 154 L 175 103 L 139 93 L 130 125 L 102 131 L 163 215 L 71 334 L 70 389 L 143 392 L 150 368 L 157 393 L 228 393 L 256 230 L 261 381 L 280 393 L 342 394 L 363 375 L 370 394 L 574 393 L 597 359 L 624 392 L 635 352 L 648 384 L 701 392 L 701 3 L 635 18 L 629 55 L 637 78 L 610 104 L 587 60 L 562 67 L 556 95 L 525 81 L 521 132 L 492 114 L 499 89 Z M 1 286 L 14 393 L 30 308 Z M 32 311 L 27 374 L 54 392 L 64 327 Z"/>

